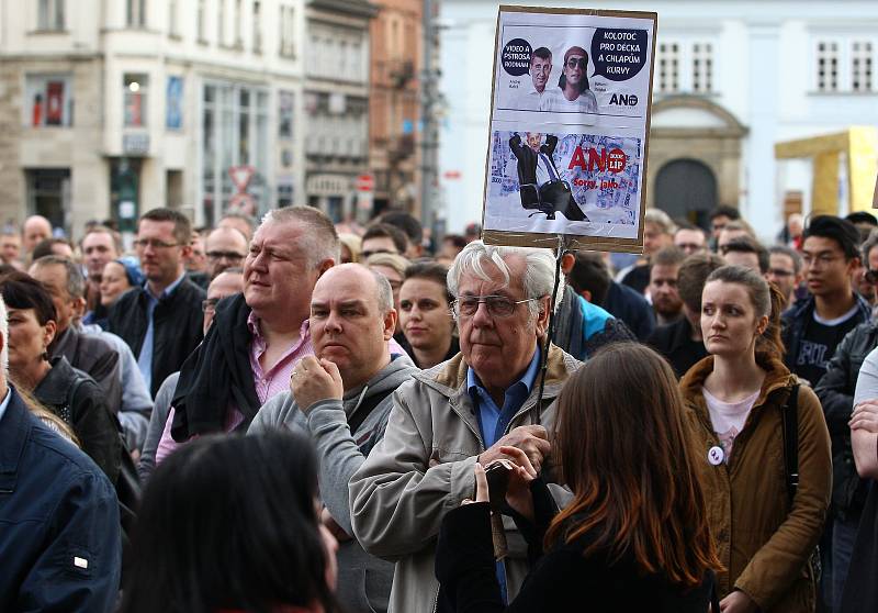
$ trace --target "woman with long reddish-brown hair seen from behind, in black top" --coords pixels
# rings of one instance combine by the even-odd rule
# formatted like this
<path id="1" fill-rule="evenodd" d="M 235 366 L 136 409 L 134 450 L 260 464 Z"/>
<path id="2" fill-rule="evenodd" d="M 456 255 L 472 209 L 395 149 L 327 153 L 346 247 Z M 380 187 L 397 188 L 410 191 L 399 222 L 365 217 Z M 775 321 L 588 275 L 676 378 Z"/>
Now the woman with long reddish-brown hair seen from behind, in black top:
<path id="1" fill-rule="evenodd" d="M 508 606 L 497 581 L 485 471 L 476 498 L 442 523 L 438 609 L 466 613 L 705 613 L 719 559 L 689 455 L 683 398 L 652 349 L 611 345 L 558 400 L 551 460 L 573 501 L 556 512 L 527 455 L 507 447 L 505 512 L 528 540 L 532 570 Z"/>

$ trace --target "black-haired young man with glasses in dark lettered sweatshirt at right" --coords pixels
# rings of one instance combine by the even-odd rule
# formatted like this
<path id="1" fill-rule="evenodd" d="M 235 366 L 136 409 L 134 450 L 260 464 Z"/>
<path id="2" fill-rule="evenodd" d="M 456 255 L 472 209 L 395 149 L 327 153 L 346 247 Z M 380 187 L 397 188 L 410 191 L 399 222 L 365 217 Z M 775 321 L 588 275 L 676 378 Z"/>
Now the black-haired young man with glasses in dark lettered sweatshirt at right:
<path id="1" fill-rule="evenodd" d="M 784 314 L 785 361 L 792 372 L 817 386 L 835 347 L 857 324 L 871 319 L 871 309 L 851 285 L 860 258 L 854 224 L 819 215 L 803 236 L 803 274 L 810 296 Z"/>

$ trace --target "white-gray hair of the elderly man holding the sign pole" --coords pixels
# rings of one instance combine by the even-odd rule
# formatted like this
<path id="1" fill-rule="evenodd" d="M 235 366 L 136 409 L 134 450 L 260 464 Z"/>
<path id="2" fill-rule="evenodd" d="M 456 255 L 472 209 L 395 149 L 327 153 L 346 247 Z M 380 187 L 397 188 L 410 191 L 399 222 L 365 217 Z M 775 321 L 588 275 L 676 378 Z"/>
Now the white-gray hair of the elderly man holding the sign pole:
<path id="1" fill-rule="evenodd" d="M 485 245 L 482 241 L 473 241 L 469 243 L 463 250 L 454 258 L 454 264 L 448 271 L 448 291 L 454 298 L 458 297 L 458 287 L 460 278 L 464 272 L 472 272 L 480 279 L 491 281 L 491 277 L 485 271 L 483 263 L 488 260 L 493 263 L 500 271 L 504 282 L 508 287 L 511 282 L 509 274 L 509 266 L 506 259 L 510 257 L 520 257 L 525 260 L 525 278 L 522 285 L 525 287 L 525 296 L 527 298 L 542 298 L 543 296 L 552 296 L 552 288 L 555 280 L 555 257 L 549 249 L 539 249 L 536 247 L 506 247 L 499 245 Z M 555 310 L 561 304 L 561 299 L 564 297 L 564 274 L 559 271 L 559 292 L 555 297 Z M 532 317 L 539 313 L 539 304 L 537 302 L 528 302 L 528 310 Z"/>

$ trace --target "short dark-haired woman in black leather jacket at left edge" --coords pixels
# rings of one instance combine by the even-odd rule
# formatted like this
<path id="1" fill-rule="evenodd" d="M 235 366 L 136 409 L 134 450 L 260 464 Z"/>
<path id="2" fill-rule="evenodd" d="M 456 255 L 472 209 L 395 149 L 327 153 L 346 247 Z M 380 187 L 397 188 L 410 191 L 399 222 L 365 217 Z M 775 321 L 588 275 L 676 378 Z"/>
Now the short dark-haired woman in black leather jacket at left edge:
<path id="1" fill-rule="evenodd" d="M 49 361 L 56 315 L 48 292 L 32 277 L 12 272 L 0 278 L 0 294 L 8 311 L 10 378 L 70 425 L 82 450 L 115 483 L 122 452 L 119 422 L 94 379 L 63 356 Z"/>

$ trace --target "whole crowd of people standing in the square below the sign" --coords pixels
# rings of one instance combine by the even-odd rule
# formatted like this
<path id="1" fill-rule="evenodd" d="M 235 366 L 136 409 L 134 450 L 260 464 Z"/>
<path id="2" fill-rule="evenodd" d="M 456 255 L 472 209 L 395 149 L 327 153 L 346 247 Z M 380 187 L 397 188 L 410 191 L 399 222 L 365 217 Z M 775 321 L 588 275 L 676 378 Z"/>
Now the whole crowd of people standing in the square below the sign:
<path id="1" fill-rule="evenodd" d="M 0 611 L 878 610 L 878 220 L 710 224 L 4 231 Z"/>

